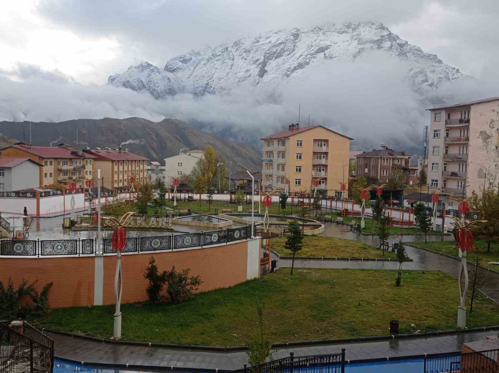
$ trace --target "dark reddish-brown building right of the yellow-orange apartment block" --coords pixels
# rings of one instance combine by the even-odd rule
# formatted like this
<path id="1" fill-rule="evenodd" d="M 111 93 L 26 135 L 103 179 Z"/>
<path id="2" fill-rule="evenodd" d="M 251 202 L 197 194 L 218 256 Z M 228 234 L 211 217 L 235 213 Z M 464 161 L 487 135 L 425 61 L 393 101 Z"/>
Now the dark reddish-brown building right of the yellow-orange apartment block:
<path id="1" fill-rule="evenodd" d="M 377 179 L 379 183 L 386 183 L 397 169 L 406 175 L 406 183 L 416 184 L 417 167 L 411 166 L 412 156 L 404 151 L 390 149 L 386 143 L 380 144 L 380 149 L 362 152 L 355 156 L 357 159 L 356 176 Z"/>

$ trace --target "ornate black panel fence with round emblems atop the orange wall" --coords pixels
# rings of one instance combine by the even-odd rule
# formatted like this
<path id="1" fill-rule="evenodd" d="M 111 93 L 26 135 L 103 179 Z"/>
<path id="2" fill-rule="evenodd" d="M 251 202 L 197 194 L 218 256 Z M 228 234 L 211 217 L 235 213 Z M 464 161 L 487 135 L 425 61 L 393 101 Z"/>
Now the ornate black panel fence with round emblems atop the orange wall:
<path id="1" fill-rule="evenodd" d="M 256 226 L 256 224 L 255 224 Z M 255 228 L 256 231 L 256 228 Z M 127 237 L 123 252 L 162 251 L 191 247 L 218 245 L 248 239 L 251 237 L 251 225 L 240 228 L 227 228 L 210 232 L 177 234 L 151 237 Z M 66 240 L 1 240 L 0 255 L 5 256 L 50 256 L 50 255 L 94 255 L 97 239 Z M 115 251 L 112 239 L 103 238 L 104 254 Z"/>

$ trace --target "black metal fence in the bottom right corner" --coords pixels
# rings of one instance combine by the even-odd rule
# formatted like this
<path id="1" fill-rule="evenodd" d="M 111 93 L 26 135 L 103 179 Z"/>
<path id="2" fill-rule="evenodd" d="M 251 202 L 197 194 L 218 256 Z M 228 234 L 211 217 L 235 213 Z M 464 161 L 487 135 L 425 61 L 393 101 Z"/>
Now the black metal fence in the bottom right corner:
<path id="1" fill-rule="evenodd" d="M 498 352 L 496 350 L 488 350 L 471 353 L 455 353 L 444 356 L 436 356 L 425 358 L 424 373 L 497 373 Z"/>

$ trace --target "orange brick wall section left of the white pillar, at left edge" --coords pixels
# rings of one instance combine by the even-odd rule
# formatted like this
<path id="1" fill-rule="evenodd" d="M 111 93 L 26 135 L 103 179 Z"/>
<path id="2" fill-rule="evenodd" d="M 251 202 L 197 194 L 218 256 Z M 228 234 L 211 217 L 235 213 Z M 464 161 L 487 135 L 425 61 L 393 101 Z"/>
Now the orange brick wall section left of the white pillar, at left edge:
<path id="1" fill-rule="evenodd" d="M 38 280 L 41 291 L 53 282 L 49 293 L 50 307 L 86 306 L 93 304 L 95 257 L 70 258 L 0 258 L 0 281 L 6 286 L 12 277 L 17 289 L 25 278 Z"/>

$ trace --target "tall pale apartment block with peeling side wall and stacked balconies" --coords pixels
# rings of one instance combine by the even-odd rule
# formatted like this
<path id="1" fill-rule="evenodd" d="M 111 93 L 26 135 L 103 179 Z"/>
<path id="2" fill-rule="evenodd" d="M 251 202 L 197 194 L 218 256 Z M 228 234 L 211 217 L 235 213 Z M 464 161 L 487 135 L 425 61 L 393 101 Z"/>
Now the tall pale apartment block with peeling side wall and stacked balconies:
<path id="1" fill-rule="evenodd" d="M 499 171 L 499 97 L 462 102 L 430 111 L 428 182 L 443 197 L 480 194 L 497 184 Z M 451 205 L 452 203 L 452 205 Z"/>

